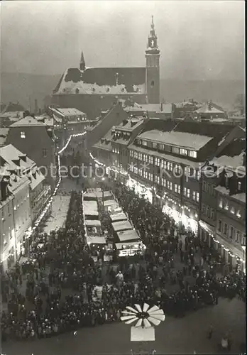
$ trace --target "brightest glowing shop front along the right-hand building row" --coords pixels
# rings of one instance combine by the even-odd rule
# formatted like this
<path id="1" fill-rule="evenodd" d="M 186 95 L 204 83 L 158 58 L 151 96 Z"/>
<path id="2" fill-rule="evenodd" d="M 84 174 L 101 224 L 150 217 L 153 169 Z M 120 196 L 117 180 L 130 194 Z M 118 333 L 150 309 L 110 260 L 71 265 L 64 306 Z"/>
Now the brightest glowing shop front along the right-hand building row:
<path id="1" fill-rule="evenodd" d="M 177 207 L 178 209 L 179 207 Z M 185 207 L 181 207 L 182 212 L 180 212 L 179 210 L 175 209 L 174 207 L 170 207 L 168 204 L 165 204 L 163 206 L 163 213 L 167 214 L 169 217 L 171 217 L 172 219 L 175 220 L 176 224 L 182 224 L 183 226 L 185 226 L 185 229 L 187 230 L 191 230 L 194 232 L 194 234 L 197 234 L 198 231 L 198 223 L 197 220 L 187 216 L 187 214 L 185 214 Z"/>

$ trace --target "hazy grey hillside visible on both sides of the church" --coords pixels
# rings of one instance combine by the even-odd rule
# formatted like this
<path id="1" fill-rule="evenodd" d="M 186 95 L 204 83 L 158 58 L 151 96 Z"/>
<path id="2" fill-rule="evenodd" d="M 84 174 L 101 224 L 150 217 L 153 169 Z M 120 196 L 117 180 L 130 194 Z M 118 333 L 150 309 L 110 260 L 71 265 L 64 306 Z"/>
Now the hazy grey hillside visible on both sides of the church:
<path id="1" fill-rule="evenodd" d="M 60 75 L 33 75 L 25 73 L 1 73 L 1 102 L 20 102 L 24 107 L 43 107 L 45 96 L 51 94 Z M 197 101 L 212 99 L 213 102 L 228 108 L 236 95 L 244 92 L 241 80 L 199 80 L 181 81 L 177 79 L 160 80 L 160 96 L 165 102 L 181 102 L 193 98 Z"/>

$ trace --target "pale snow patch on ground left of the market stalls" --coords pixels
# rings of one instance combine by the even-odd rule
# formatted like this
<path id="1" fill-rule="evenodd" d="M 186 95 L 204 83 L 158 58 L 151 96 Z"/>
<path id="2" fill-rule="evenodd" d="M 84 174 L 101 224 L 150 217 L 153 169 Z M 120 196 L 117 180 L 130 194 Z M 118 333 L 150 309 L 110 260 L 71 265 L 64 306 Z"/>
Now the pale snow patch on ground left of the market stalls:
<path id="1" fill-rule="evenodd" d="M 65 224 L 67 211 L 69 209 L 70 196 L 55 196 L 52 204 L 52 212 L 49 219 L 45 222 L 44 231 L 50 234 L 50 231 L 59 229 Z"/>

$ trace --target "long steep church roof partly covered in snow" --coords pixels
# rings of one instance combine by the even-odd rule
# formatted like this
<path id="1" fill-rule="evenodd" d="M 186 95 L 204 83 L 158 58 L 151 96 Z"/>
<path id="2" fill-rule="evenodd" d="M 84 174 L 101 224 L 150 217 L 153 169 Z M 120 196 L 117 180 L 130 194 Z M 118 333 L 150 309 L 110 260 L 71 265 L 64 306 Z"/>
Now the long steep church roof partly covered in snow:
<path id="1" fill-rule="evenodd" d="M 67 69 L 54 94 L 145 94 L 145 67 Z"/>

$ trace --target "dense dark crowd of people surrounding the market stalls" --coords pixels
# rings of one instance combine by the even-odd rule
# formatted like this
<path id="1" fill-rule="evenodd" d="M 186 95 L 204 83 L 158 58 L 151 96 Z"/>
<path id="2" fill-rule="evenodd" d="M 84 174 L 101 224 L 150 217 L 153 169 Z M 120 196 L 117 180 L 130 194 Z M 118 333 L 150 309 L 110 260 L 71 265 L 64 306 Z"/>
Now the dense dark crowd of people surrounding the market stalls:
<path id="1" fill-rule="evenodd" d="M 94 252 L 84 238 L 82 194 L 72 192 L 65 228 L 50 235 L 37 233 L 31 258 L 16 263 L 1 277 L 3 299 L 2 339 L 51 337 L 79 327 L 117 322 L 127 305 L 147 302 L 166 315 L 183 317 L 205 305 L 216 305 L 219 297 L 245 301 L 245 278 L 237 272 L 216 277 L 212 250 L 192 232 L 177 229 L 160 207 L 138 197 L 134 190 L 114 181 L 114 194 L 138 229 L 146 251 L 138 261 L 121 258 L 116 265 L 95 263 Z M 107 218 L 106 227 L 107 227 Z M 185 242 L 180 234 L 186 234 Z M 185 244 L 185 245 L 183 245 Z M 202 258 L 196 262 L 195 254 Z M 104 248 L 97 251 L 104 260 Z M 183 268 L 175 269 L 175 255 Z M 204 266 L 208 265 L 209 268 Z M 195 282 L 187 281 L 191 275 Z M 26 294 L 20 292 L 26 279 Z M 171 293 L 169 285 L 178 288 Z M 101 295 L 96 285 L 101 285 Z M 70 290 L 65 297 L 63 290 Z"/>

